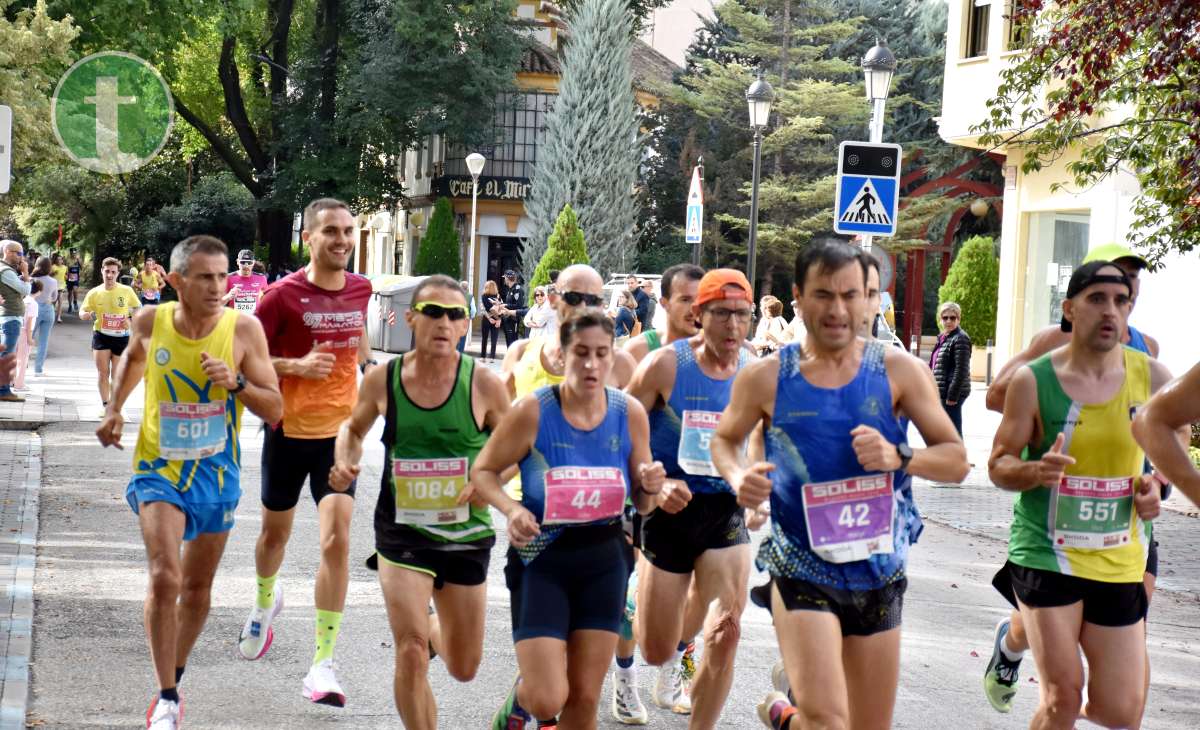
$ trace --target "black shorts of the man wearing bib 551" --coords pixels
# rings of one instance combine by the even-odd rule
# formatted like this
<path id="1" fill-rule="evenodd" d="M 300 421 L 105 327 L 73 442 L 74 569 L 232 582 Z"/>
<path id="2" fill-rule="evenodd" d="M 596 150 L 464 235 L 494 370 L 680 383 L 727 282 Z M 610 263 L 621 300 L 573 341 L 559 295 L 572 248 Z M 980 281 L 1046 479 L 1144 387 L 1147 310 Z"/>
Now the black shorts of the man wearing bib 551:
<path id="1" fill-rule="evenodd" d="M 1108 584 L 1007 562 L 991 579 L 991 585 L 1014 608 L 1018 600 L 1033 609 L 1084 602 L 1084 621 L 1096 626 L 1132 626 L 1144 620 L 1148 609 L 1141 581 Z"/>

